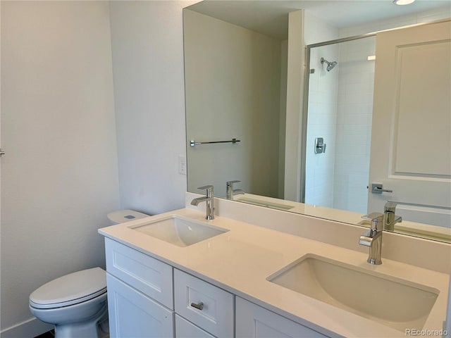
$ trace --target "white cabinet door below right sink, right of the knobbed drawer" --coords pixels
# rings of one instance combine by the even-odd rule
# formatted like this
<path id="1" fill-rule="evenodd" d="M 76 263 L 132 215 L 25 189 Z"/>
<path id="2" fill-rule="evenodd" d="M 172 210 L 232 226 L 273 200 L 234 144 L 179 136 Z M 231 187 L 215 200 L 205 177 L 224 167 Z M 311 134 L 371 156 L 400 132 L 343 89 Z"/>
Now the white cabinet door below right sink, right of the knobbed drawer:
<path id="1" fill-rule="evenodd" d="M 236 297 L 236 338 L 326 337 L 281 315 Z"/>

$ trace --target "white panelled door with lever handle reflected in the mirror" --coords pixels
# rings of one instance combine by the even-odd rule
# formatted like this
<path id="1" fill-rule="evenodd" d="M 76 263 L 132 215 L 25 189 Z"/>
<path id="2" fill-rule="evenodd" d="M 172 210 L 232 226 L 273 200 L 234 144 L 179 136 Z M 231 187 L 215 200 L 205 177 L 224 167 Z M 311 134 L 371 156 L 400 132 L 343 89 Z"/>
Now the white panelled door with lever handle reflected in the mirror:
<path id="1" fill-rule="evenodd" d="M 451 227 L 451 21 L 379 33 L 375 72 L 369 212 Z"/>

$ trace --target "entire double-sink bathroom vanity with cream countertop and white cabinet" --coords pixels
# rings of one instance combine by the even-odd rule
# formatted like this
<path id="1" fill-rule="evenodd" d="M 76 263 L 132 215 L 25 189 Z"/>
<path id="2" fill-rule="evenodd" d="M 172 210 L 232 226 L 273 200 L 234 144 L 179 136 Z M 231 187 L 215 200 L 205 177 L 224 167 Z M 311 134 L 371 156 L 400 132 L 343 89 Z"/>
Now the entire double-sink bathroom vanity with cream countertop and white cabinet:
<path id="1" fill-rule="evenodd" d="M 362 227 L 334 223 L 324 237 L 330 221 L 223 200 L 216 208 L 214 220 L 199 206 L 99 230 L 106 237 L 111 337 L 443 332 L 449 244 L 409 237 L 415 249 L 398 257 L 393 247 L 404 250 L 406 238 L 388 234 L 383 264 L 375 266 L 359 248 Z M 268 229 L 268 221 L 284 232 Z M 312 226 L 321 238 L 287 233 Z M 422 256 L 444 259 L 425 266 L 414 252 L 422 249 Z M 417 264 L 409 261 L 416 256 Z"/>

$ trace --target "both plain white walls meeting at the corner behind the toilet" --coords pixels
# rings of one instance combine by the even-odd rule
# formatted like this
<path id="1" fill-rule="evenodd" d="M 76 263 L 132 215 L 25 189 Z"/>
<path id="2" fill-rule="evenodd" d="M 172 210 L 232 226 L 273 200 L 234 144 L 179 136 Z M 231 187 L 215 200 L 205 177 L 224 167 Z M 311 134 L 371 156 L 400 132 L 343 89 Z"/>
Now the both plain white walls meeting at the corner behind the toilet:
<path id="1" fill-rule="evenodd" d="M 189 5 L 1 1 L 2 337 L 47 330 L 29 321 L 39 285 L 104 265 L 106 213 L 184 206 Z"/>

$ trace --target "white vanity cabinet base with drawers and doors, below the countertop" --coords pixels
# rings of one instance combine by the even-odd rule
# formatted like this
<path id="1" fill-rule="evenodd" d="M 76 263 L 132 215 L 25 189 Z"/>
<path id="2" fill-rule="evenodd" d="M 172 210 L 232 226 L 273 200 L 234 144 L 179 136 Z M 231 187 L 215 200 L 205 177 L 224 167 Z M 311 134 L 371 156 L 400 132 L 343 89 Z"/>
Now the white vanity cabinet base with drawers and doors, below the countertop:
<path id="1" fill-rule="evenodd" d="M 105 239 L 111 338 L 326 337 Z"/>

